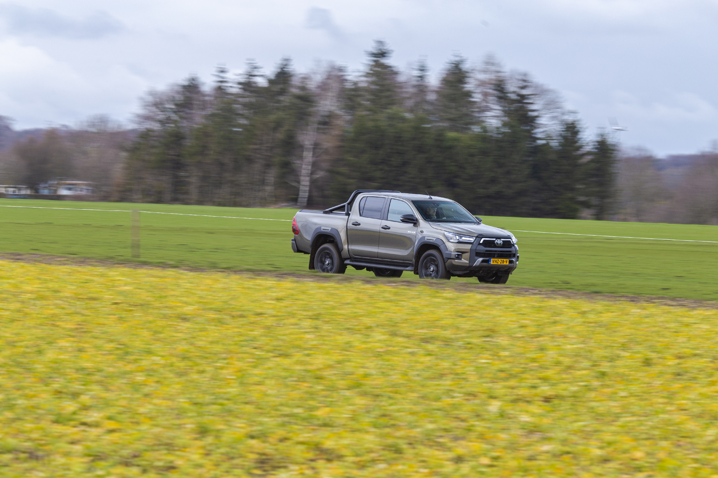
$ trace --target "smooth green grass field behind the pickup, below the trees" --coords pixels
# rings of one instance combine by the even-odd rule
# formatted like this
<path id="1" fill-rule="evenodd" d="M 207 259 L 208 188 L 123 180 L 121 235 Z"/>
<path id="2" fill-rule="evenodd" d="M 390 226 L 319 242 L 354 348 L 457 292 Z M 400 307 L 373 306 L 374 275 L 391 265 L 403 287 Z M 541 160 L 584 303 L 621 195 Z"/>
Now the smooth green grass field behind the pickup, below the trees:
<path id="1" fill-rule="evenodd" d="M 141 209 L 212 216 L 292 219 L 295 209 L 243 209 L 166 204 L 0 199 L 0 205 L 78 209 Z M 0 208 L 2 252 L 131 260 L 128 212 Z M 516 231 L 521 262 L 509 285 L 626 295 L 718 300 L 718 244 L 561 236 L 718 241 L 718 226 L 485 217 Z M 289 247 L 285 221 L 141 214 L 141 261 L 177 266 L 307 272 L 307 256 Z M 348 274 L 370 276 L 348 269 Z M 414 279 L 414 274 L 404 274 Z M 475 279 L 452 280 L 472 281 Z"/>

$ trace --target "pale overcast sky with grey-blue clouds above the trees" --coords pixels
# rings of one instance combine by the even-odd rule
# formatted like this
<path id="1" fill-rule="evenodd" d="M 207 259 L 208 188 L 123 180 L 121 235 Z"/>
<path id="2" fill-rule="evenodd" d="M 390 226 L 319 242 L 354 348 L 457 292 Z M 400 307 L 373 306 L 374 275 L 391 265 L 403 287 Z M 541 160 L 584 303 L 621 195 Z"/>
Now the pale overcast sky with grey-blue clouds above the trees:
<path id="1" fill-rule="evenodd" d="M 61 5 L 61 6 L 60 6 Z M 0 115 L 14 128 L 130 124 L 139 97 L 217 64 L 283 56 L 365 62 L 385 39 L 402 69 L 493 53 L 558 90 L 589 133 L 665 156 L 718 140 L 718 0 L 22 0 L 0 3 Z"/>

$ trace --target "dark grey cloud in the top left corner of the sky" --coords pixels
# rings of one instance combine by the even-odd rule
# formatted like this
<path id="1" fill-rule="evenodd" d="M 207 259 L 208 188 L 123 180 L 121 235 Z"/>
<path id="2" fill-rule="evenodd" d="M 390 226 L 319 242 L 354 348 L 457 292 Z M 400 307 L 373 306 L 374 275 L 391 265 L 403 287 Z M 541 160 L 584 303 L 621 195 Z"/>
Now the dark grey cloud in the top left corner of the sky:
<path id="1" fill-rule="evenodd" d="M 0 4 L 0 18 L 10 34 L 31 34 L 38 37 L 67 39 L 98 39 L 122 32 L 121 21 L 106 11 L 95 11 L 83 20 L 67 18 L 51 9 L 29 9 L 18 4 Z"/>

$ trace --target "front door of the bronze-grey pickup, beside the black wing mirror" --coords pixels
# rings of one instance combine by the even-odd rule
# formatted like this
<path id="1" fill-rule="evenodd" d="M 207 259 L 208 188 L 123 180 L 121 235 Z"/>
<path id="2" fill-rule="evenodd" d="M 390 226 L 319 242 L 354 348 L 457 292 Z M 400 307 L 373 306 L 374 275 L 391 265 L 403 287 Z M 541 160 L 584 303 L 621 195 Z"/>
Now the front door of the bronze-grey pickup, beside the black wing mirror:
<path id="1" fill-rule="evenodd" d="M 390 199 L 386 219 L 381 221 L 379 234 L 379 259 L 411 262 L 414 260 L 416 226 L 401 222 L 402 214 L 414 214 L 408 203 L 401 199 Z"/>

